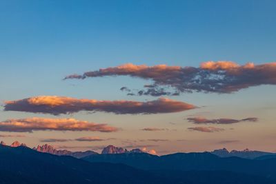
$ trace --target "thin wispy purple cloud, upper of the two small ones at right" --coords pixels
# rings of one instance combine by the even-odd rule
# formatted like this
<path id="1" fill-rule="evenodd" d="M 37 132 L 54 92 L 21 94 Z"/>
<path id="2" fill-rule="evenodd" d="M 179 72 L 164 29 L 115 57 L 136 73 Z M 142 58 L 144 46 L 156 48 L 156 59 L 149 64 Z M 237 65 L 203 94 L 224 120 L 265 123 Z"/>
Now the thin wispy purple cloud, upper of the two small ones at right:
<path id="1" fill-rule="evenodd" d="M 188 118 L 188 122 L 192 122 L 195 124 L 207 124 L 207 123 L 213 123 L 213 124 L 232 124 L 232 123 L 239 123 L 243 121 L 251 121 L 255 122 L 258 119 L 255 117 L 250 117 L 246 119 L 206 119 L 203 117 L 195 117 L 195 118 Z"/>

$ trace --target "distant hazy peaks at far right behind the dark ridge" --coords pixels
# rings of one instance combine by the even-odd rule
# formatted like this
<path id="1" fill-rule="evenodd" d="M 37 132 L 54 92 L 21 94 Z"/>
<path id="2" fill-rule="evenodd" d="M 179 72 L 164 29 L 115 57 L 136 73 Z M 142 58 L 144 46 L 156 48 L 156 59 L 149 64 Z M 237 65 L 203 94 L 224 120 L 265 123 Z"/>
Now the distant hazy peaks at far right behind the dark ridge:
<path id="1" fill-rule="evenodd" d="M 237 156 L 237 157 L 244 158 L 244 159 L 256 159 L 259 156 L 275 154 L 275 153 L 271 153 L 271 152 L 252 151 L 252 150 L 248 150 L 248 149 L 242 150 L 242 151 L 232 150 L 229 152 L 228 150 L 226 150 L 226 148 L 214 150 L 213 152 L 210 152 L 210 153 L 215 154 L 220 157 Z"/>

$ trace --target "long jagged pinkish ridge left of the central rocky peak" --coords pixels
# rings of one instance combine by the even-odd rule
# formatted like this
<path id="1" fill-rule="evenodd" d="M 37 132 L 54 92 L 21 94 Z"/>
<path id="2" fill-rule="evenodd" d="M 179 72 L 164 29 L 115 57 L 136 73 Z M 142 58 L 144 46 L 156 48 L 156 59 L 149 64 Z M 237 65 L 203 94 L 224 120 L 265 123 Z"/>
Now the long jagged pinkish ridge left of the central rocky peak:
<path id="1" fill-rule="evenodd" d="M 44 152 L 44 153 L 50 153 L 50 154 L 56 154 L 56 155 L 68 155 L 68 156 L 73 156 L 76 158 L 82 158 L 84 156 L 89 156 L 91 154 L 98 154 L 97 152 L 93 151 L 85 151 L 85 152 L 71 152 L 68 150 L 56 150 L 52 145 L 37 145 L 37 147 L 33 147 L 33 150 L 36 150 L 37 152 Z"/>

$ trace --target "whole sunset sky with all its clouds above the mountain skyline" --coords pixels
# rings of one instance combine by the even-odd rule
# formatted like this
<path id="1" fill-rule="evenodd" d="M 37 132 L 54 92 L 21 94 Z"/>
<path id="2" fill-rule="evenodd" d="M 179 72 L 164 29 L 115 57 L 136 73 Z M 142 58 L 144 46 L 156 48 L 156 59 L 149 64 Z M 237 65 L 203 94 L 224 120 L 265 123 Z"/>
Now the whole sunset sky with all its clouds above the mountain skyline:
<path id="1" fill-rule="evenodd" d="M 8 144 L 18 140 L 30 147 L 50 143 L 68 150 L 99 151 L 112 144 L 146 147 L 157 154 L 222 147 L 276 152 L 275 6 L 273 0 L 3 0 L 0 139 Z M 213 61 L 211 67 L 204 65 L 208 61 Z M 217 61 L 221 64 L 216 65 Z M 117 70 L 120 65 L 123 69 Z M 197 88 L 201 90 L 189 88 L 187 92 L 182 77 L 189 68 L 200 77 L 205 72 L 219 75 L 219 84 L 212 84 L 222 83 L 227 89 L 204 90 L 200 83 Z M 99 69 L 106 70 L 99 74 Z M 224 73 L 217 73 L 220 70 L 237 80 L 235 90 L 228 90 L 230 81 Z M 93 76 L 83 74 L 90 71 Z M 63 80 L 72 74 L 83 79 Z M 144 87 L 152 84 L 153 88 Z M 137 94 L 160 88 L 170 94 Z M 38 107 L 26 103 L 37 96 L 57 98 L 44 99 L 46 107 L 34 112 Z M 83 105 L 78 99 L 96 100 L 98 106 L 90 101 L 94 106 L 88 110 L 83 108 L 88 102 Z M 137 103 L 146 108 L 137 110 Z M 72 104 L 80 110 L 68 111 Z M 64 106 L 55 109 L 58 105 Z M 60 113 L 61 109 L 65 112 Z M 84 129 L 67 130 L 68 119 Z M 209 121 L 202 123 L 202 119 Z M 225 119 L 238 122 L 225 123 Z M 18 132 L 17 126 L 24 122 L 42 127 Z M 49 122 L 64 127 L 53 130 Z M 86 127 L 90 123 L 95 127 Z M 77 141 L 83 137 L 90 139 Z"/>

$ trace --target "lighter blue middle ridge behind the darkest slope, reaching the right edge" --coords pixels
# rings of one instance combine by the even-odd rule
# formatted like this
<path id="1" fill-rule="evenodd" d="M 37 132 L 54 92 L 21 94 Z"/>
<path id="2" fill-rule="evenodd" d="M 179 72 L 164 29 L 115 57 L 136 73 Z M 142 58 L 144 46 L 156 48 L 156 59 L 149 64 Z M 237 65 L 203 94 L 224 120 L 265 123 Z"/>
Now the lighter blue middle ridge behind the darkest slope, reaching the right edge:
<path id="1" fill-rule="evenodd" d="M 146 153 L 98 154 L 83 158 L 92 163 L 124 163 L 143 170 L 228 171 L 252 174 L 276 180 L 276 159 L 253 160 L 238 157 L 221 158 L 209 152 L 177 153 L 155 156 Z"/>

